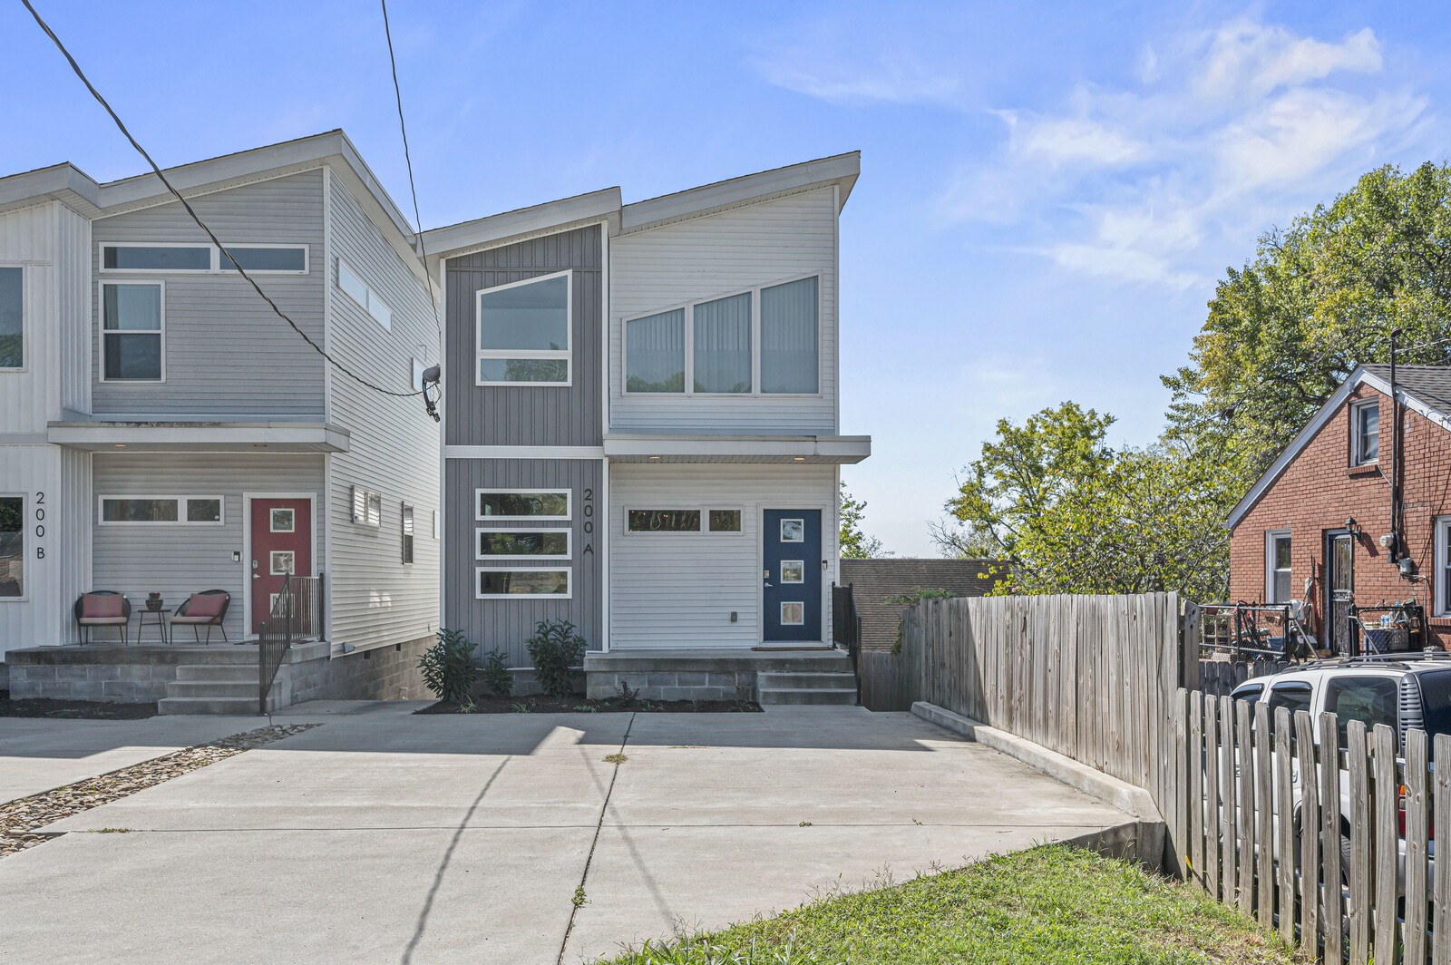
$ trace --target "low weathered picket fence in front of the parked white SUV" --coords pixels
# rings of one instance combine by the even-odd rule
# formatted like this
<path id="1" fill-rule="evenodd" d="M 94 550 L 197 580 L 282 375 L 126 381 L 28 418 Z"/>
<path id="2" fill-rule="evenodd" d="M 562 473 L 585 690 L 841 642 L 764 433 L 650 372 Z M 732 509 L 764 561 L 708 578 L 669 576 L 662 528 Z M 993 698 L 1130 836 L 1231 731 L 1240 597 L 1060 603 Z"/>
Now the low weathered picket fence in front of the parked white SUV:
<path id="1" fill-rule="evenodd" d="M 1174 808 L 1185 874 L 1339 965 L 1451 962 L 1451 737 L 1180 691 Z M 1431 766 L 1434 763 L 1434 768 Z M 1288 820 L 1284 820 L 1288 817 Z"/>

